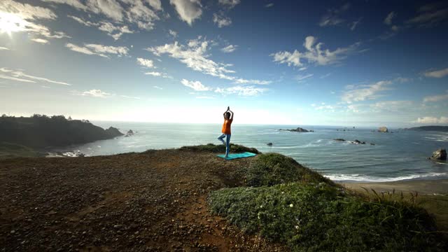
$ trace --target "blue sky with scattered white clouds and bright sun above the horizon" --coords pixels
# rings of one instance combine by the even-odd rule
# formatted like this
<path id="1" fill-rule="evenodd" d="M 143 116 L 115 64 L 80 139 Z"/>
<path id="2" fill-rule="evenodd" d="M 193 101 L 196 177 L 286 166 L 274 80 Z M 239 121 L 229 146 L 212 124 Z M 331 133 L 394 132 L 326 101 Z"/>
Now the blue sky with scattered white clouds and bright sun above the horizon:
<path id="1" fill-rule="evenodd" d="M 448 125 L 448 1 L 0 1 L 0 113 Z"/>

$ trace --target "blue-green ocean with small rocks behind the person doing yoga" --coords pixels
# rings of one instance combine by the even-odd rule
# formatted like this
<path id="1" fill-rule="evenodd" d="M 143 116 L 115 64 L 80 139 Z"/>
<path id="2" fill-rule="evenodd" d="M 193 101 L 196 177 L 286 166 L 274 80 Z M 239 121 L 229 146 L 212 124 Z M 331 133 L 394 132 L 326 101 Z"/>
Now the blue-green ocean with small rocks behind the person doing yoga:
<path id="1" fill-rule="evenodd" d="M 137 132 L 55 151 L 80 151 L 86 155 L 142 152 L 148 149 L 179 148 L 199 144 L 220 144 L 220 124 L 92 122 L 121 132 Z M 279 129 L 303 127 L 314 132 L 287 132 Z M 344 131 L 346 130 L 346 131 Z M 374 130 L 374 132 L 372 132 Z M 447 179 L 448 164 L 428 160 L 437 148 L 448 147 L 448 132 L 391 130 L 374 128 L 297 125 L 232 125 L 231 143 L 257 148 L 262 153 L 288 155 L 302 165 L 321 172 L 334 181 L 385 182 L 416 179 Z M 351 144 L 345 139 L 365 141 Z M 267 143 L 272 146 L 267 146 Z M 370 145 L 370 143 L 374 145 Z"/>

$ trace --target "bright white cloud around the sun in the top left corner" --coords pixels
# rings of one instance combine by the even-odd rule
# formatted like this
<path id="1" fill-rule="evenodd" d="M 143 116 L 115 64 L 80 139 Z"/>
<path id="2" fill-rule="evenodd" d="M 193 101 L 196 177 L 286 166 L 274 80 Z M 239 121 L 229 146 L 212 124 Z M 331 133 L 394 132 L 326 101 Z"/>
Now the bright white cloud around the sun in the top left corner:
<path id="1" fill-rule="evenodd" d="M 27 31 L 47 38 L 68 38 L 69 36 L 62 31 L 52 32 L 48 27 L 35 22 L 36 20 L 55 20 L 56 18 L 57 15 L 48 8 L 12 0 L 0 1 L 0 27 L 8 27 L 8 30 L 0 29 L 0 33 Z"/>

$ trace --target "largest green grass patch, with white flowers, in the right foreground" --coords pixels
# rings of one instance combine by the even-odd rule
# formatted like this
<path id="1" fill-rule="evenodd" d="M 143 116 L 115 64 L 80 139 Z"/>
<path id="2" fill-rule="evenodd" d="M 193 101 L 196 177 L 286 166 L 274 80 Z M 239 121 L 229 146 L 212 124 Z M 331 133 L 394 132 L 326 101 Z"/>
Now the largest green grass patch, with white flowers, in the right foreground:
<path id="1" fill-rule="evenodd" d="M 405 200 L 369 199 L 328 183 L 212 192 L 209 204 L 248 233 L 293 251 L 444 251 L 433 218 Z"/>

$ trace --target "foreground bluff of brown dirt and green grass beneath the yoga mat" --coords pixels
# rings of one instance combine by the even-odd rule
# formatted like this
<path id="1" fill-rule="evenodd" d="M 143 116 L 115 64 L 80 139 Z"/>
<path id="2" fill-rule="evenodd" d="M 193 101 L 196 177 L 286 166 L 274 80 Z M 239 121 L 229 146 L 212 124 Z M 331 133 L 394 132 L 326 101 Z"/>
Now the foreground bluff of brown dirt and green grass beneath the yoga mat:
<path id="1" fill-rule="evenodd" d="M 0 160 L 0 250 L 446 251 L 411 202 L 360 196 L 277 153 L 224 151 Z"/>

